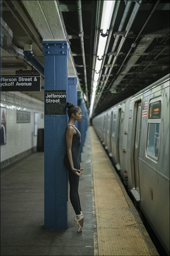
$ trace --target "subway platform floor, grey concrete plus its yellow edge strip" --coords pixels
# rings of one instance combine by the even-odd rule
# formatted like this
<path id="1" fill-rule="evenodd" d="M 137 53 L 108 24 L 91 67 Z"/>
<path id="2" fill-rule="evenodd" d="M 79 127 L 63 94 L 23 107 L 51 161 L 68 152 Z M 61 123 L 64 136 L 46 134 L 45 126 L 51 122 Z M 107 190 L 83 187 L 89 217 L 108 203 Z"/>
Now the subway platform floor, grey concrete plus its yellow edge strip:
<path id="1" fill-rule="evenodd" d="M 44 152 L 1 170 L 1 255 L 159 255 L 92 126 L 81 165 L 80 233 L 69 197 L 68 229 L 44 229 Z"/>

